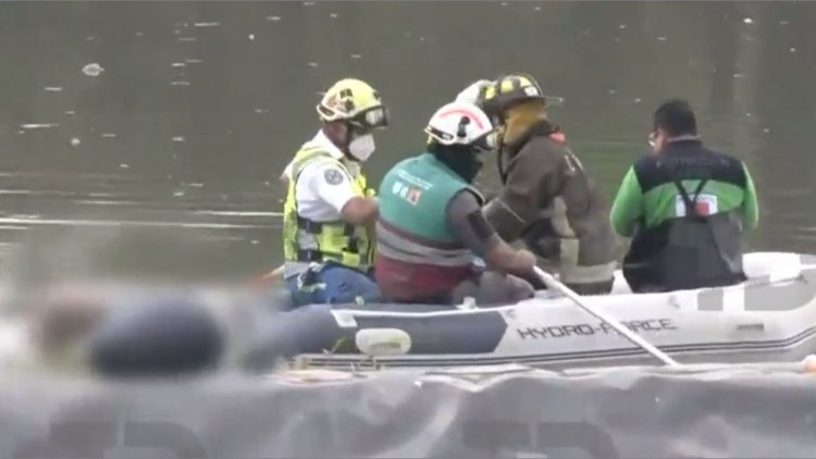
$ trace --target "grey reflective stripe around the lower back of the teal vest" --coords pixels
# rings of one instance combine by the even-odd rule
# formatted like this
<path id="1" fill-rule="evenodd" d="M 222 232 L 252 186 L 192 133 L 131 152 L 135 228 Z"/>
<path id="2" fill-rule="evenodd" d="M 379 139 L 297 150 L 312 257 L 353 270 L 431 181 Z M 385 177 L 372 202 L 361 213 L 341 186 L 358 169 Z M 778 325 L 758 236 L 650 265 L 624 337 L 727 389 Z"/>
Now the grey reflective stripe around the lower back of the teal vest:
<path id="1" fill-rule="evenodd" d="M 467 248 L 442 249 L 429 247 L 399 235 L 381 222 L 376 223 L 378 250 L 393 260 L 438 266 L 467 266 L 473 255 Z"/>

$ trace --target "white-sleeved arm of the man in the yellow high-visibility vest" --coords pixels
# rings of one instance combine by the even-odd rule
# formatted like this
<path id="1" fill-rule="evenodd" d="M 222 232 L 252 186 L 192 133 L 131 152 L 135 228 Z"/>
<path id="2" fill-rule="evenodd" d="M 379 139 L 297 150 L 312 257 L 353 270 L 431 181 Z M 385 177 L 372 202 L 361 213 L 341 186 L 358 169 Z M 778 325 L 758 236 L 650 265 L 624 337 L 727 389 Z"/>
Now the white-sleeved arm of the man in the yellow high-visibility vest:
<path id="1" fill-rule="evenodd" d="M 339 212 L 353 225 L 366 225 L 376 220 L 380 206 L 376 198 L 355 193 L 351 176 L 336 164 L 323 164 L 311 174 L 310 186 L 320 199 Z"/>

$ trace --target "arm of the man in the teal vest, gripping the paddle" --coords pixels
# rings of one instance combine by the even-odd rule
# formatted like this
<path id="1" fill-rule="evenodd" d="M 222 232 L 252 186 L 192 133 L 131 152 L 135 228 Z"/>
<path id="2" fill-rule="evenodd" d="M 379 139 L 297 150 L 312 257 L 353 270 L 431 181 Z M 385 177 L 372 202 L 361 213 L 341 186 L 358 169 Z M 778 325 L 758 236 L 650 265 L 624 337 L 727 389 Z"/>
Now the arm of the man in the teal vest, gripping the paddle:
<path id="1" fill-rule="evenodd" d="M 448 202 L 446 220 L 457 239 L 483 259 L 487 268 L 518 276 L 532 274 L 535 256 L 527 250 L 516 250 L 502 240 L 469 190 L 459 191 Z"/>

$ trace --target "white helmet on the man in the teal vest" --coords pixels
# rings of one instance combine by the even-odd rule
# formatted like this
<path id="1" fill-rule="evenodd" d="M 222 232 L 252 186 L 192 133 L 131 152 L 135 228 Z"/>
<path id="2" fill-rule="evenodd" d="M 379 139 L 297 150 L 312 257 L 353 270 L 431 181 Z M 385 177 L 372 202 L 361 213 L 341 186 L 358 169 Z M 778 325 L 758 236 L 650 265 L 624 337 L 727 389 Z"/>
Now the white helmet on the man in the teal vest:
<path id="1" fill-rule="evenodd" d="M 479 107 L 469 102 L 452 102 L 436 110 L 425 133 L 445 146 L 472 146 L 485 151 L 498 147 L 498 129 Z"/>

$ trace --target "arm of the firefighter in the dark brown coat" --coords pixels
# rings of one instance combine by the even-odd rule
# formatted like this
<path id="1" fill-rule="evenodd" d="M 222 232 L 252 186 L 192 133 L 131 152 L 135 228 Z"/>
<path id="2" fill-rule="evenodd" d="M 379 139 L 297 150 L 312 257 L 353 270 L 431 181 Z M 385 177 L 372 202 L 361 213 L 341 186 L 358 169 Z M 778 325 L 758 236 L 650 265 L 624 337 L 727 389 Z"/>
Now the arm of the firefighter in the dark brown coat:
<path id="1" fill-rule="evenodd" d="M 507 164 L 502 191 L 484 207 L 484 215 L 498 236 L 512 244 L 539 218 L 545 195 L 556 189 L 560 157 L 528 145 Z"/>

